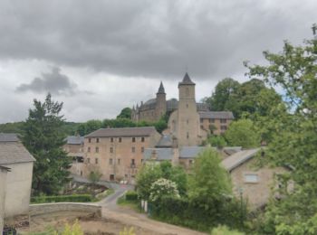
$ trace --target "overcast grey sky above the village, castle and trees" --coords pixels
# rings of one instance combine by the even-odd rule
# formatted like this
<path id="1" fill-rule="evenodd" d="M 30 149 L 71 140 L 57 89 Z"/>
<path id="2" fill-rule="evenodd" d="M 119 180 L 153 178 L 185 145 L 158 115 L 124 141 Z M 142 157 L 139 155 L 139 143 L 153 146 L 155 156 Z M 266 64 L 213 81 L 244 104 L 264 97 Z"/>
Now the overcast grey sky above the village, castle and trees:
<path id="1" fill-rule="evenodd" d="M 243 61 L 301 44 L 317 22 L 315 0 L 0 0 L 0 123 L 27 118 L 47 92 L 68 121 L 115 118 L 168 99 L 188 71 L 197 100 L 217 81 L 244 81 Z"/>

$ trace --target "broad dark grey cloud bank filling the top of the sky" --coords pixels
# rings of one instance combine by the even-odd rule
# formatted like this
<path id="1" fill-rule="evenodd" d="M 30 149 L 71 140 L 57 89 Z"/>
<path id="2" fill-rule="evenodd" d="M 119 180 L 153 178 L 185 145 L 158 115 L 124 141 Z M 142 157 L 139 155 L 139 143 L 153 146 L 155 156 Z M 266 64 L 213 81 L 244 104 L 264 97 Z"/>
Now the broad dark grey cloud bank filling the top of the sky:
<path id="1" fill-rule="evenodd" d="M 0 57 L 149 78 L 188 68 L 219 79 L 283 39 L 302 40 L 314 9 L 314 1 L 5 0 Z"/>

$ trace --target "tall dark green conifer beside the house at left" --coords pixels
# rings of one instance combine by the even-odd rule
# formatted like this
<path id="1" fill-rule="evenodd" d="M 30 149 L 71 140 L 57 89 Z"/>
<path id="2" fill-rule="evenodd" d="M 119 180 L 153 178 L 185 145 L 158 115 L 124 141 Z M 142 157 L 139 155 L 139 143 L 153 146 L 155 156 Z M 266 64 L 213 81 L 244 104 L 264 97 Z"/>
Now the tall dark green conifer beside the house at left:
<path id="1" fill-rule="evenodd" d="M 48 94 L 44 102 L 34 99 L 34 109 L 29 110 L 25 121 L 23 143 L 36 159 L 32 184 L 35 193 L 58 193 L 69 181 L 71 159 L 62 149 L 65 136 L 61 110 L 62 103 L 54 102 Z"/>

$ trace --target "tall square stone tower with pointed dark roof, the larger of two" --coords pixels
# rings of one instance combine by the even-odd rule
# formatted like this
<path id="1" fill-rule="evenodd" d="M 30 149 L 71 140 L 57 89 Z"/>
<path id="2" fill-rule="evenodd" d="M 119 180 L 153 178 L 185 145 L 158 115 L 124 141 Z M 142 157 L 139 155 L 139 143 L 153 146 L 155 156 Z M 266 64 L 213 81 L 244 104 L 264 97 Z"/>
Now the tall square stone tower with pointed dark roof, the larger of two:
<path id="1" fill-rule="evenodd" d="M 199 144 L 199 115 L 195 99 L 196 84 L 188 73 L 178 83 L 178 146 L 197 146 Z"/>

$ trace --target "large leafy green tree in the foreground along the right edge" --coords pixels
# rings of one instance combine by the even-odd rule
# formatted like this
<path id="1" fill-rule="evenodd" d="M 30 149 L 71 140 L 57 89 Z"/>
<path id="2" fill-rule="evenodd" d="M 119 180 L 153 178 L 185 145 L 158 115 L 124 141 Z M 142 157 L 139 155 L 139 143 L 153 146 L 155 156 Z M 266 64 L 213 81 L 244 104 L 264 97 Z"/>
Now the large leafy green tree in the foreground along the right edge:
<path id="1" fill-rule="evenodd" d="M 269 164 L 293 168 L 293 193 L 279 190 L 281 200 L 272 200 L 260 230 L 266 234 L 313 234 L 317 213 L 317 39 L 301 46 L 284 42 L 283 52 L 264 52 L 268 65 L 249 65 L 249 76 L 263 78 L 279 87 L 288 113 L 282 108 L 270 113 L 260 124 L 274 127 L 266 151 Z M 278 114 L 278 116 L 276 115 Z M 266 119 L 266 120 L 267 120 Z"/>

